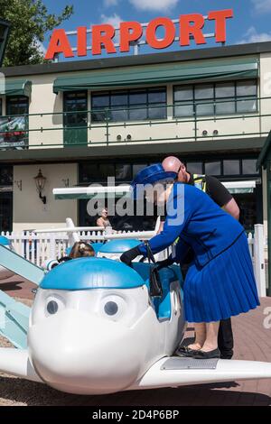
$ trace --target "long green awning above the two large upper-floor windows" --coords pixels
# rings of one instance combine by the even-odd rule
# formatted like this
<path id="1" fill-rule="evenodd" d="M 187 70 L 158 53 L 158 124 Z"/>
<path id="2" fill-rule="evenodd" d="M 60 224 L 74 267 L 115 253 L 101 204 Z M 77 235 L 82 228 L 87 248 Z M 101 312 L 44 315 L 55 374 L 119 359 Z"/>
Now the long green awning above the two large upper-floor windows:
<path id="1" fill-rule="evenodd" d="M 189 63 L 167 63 L 165 65 L 135 66 L 133 68 L 95 70 L 88 75 L 56 78 L 53 92 L 80 89 L 100 90 L 112 87 L 166 84 L 169 82 L 191 83 L 196 81 L 218 81 L 239 78 L 257 78 L 258 60 L 209 60 L 191 65 Z"/>

